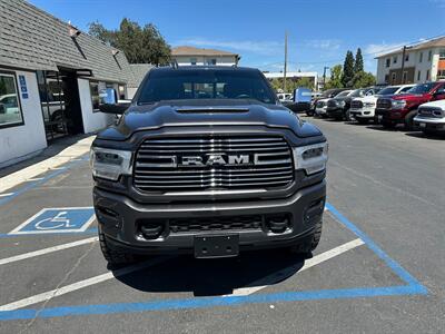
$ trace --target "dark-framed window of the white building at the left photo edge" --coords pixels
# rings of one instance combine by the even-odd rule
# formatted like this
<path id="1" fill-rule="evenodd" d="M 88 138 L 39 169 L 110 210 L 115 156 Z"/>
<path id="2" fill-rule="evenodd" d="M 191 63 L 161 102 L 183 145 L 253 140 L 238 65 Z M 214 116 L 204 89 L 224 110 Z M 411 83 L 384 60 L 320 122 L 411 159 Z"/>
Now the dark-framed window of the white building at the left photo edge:
<path id="1" fill-rule="evenodd" d="M 0 128 L 23 125 L 16 76 L 0 72 Z"/>

